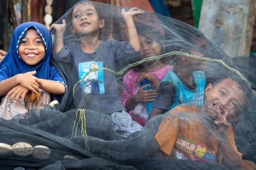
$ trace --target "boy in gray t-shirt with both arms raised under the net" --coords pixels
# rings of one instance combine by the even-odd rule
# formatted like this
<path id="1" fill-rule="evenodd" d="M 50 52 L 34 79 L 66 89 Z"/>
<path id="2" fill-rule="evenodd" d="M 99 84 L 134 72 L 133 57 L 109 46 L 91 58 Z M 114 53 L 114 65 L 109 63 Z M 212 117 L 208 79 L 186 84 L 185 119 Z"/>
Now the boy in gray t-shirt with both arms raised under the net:
<path id="1" fill-rule="evenodd" d="M 143 13 L 137 8 L 131 8 L 127 12 L 122 9 L 121 14 L 127 26 L 129 42 L 114 39 L 101 41 L 100 29 L 104 27 L 105 19 L 99 8 L 88 1 L 78 2 L 72 10 L 72 25 L 69 28 L 80 42 L 69 42 L 64 45 L 65 19 L 62 21 L 63 24 L 53 24 L 50 28 L 55 29 L 57 35 L 53 48 L 54 60 L 57 63 L 65 62 L 67 67 L 70 63 L 73 65 L 71 84 L 75 87 L 73 97 L 77 107 L 81 108 L 82 102 L 82 105 L 86 106 L 84 109 L 111 114 L 114 129 L 122 137 L 140 131 L 142 126 L 133 122 L 130 114 L 125 111 L 114 75 L 108 70 L 98 68 L 113 70 L 116 60 L 139 54 L 141 47 L 133 16 Z M 80 89 L 77 90 L 76 87 Z M 86 105 L 88 98 L 90 104 Z"/>

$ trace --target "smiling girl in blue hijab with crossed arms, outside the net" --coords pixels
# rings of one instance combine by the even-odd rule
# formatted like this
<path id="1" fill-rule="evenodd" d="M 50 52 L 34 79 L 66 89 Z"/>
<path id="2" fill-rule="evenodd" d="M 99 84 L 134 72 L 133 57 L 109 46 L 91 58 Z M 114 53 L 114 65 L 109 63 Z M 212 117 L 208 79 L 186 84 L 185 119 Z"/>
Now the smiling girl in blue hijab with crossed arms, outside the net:
<path id="1" fill-rule="evenodd" d="M 51 65 L 52 37 L 42 24 L 17 26 L 6 56 L 0 62 L 0 117 L 12 119 L 32 108 L 44 108 L 52 94 L 63 94 L 65 83 Z"/>

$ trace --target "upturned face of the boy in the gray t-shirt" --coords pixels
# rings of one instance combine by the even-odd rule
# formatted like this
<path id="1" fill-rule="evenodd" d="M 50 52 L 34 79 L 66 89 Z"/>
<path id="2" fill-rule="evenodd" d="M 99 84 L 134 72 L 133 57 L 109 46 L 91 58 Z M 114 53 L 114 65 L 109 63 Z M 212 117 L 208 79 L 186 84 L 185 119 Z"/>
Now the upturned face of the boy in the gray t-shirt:
<path id="1" fill-rule="evenodd" d="M 72 13 L 72 33 L 78 36 L 92 34 L 104 27 L 104 19 L 99 20 L 95 7 L 91 3 L 82 3 L 74 7 Z"/>

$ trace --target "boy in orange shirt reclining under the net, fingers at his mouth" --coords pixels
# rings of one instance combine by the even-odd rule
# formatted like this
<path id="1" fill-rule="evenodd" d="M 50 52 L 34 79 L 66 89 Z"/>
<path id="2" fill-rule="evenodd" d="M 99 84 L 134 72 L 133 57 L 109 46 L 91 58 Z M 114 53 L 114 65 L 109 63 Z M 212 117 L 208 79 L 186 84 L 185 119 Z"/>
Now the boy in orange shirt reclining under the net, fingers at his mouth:
<path id="1" fill-rule="evenodd" d="M 162 157 L 255 168 L 253 162 L 241 161 L 234 141 L 232 124 L 241 118 L 245 103 L 242 84 L 223 78 L 205 88 L 203 105 L 182 104 L 154 116 L 132 139 L 104 141 L 88 136 L 90 152 L 114 160 Z"/>

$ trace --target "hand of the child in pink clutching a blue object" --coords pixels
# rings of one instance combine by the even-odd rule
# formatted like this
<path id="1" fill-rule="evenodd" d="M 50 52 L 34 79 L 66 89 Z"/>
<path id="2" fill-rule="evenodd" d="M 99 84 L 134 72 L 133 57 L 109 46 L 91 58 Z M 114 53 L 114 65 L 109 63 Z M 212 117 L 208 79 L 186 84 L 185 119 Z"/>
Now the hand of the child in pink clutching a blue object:
<path id="1" fill-rule="evenodd" d="M 134 95 L 135 102 L 152 102 L 155 100 L 157 92 L 155 90 L 143 90 L 146 86 L 140 87 L 137 94 Z"/>

